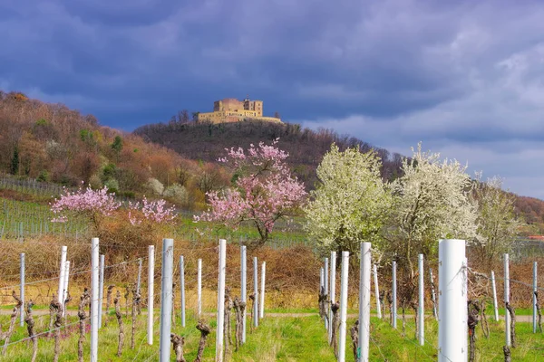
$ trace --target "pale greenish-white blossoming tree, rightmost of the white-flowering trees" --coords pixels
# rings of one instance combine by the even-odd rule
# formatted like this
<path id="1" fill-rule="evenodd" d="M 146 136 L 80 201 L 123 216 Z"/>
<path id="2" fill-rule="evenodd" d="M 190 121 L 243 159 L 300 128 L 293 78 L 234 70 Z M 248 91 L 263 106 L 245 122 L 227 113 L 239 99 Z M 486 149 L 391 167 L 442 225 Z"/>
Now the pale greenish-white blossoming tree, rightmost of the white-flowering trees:
<path id="1" fill-rule="evenodd" d="M 502 190 L 502 179 L 498 176 L 481 181 L 481 173 L 476 175 L 474 197 L 478 201 L 478 234 L 474 251 L 482 267 L 491 267 L 500 260 L 504 252 L 509 252 L 520 221 L 517 219 L 514 202 L 515 195 Z"/>

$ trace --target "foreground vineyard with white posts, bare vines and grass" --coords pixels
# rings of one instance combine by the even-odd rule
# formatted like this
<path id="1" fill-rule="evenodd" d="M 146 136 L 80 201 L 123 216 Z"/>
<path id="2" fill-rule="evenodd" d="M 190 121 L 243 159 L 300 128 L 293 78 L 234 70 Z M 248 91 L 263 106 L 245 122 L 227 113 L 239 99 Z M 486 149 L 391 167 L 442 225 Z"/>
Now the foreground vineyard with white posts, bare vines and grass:
<path id="1" fill-rule="evenodd" d="M 296 278 L 296 288 L 291 288 L 288 272 L 280 272 L 289 250 L 278 258 L 273 248 L 255 253 L 225 242 L 222 247 L 213 242 L 198 247 L 167 242 L 163 242 L 166 250 L 160 251 L 160 244 L 157 250 L 154 246 L 141 248 L 133 259 L 119 263 L 107 262 L 107 255 L 92 262 L 92 250 L 97 249 L 87 241 L 77 243 L 88 255 L 80 262 L 63 262 L 71 259 L 75 245 L 63 248 L 58 243 L 28 242 L 27 247 L 33 249 L 58 249 L 59 258 L 47 266 L 51 269 L 37 273 L 28 271 L 35 270 L 36 264 L 41 268 L 48 264 L 24 249 L 26 243 L 13 242 L 16 250 L 25 252 L 12 249 L 0 264 L 5 306 L 0 317 L 4 341 L 0 358 L 27 361 L 35 354 L 34 360 L 54 360 L 55 356 L 60 361 L 88 360 L 93 323 L 100 326 L 94 337 L 98 338 L 98 360 L 108 361 L 166 361 L 176 353 L 175 360 L 183 360 L 182 353 L 185 360 L 203 361 L 353 361 L 364 350 L 368 357 L 362 360 L 371 361 L 467 360 L 470 353 L 474 354 L 471 360 L 500 361 L 505 360 L 503 346 L 508 343 L 511 360 L 539 360 L 544 353 L 538 292 L 534 293 L 540 291 L 542 280 L 536 262 L 506 259 L 503 268 L 488 274 L 470 261 L 468 265 L 461 261 L 459 270 L 453 268 L 455 272 L 450 274 L 455 275 L 450 284 L 456 282 L 459 290 L 451 288 L 449 292 L 456 291 L 455 298 L 464 302 L 448 305 L 442 302 L 449 298 L 443 287 L 447 271 L 433 263 L 427 265 L 422 258 L 416 287 L 421 299 L 413 305 L 405 303 L 403 275 L 396 271 L 395 263 L 375 268 L 371 252 L 363 252 L 369 258 L 357 268 L 349 266 L 351 255 L 347 252 L 341 259 L 331 254 L 321 268 L 311 264 L 304 271 L 306 275 Z M 101 249 L 109 246 L 99 245 Z M 96 259 L 98 252 L 94 254 Z M 220 260 L 225 266 L 218 269 Z M 93 294 L 95 282 L 100 287 Z M 61 299 L 59 291 L 65 291 Z M 218 298 L 225 301 L 218 305 Z M 92 300 L 98 301 L 95 312 Z M 504 308 L 505 300 L 510 312 Z M 445 311 L 452 306 L 456 311 Z M 361 311 L 363 314 L 358 314 Z M 512 317 L 510 321 L 505 311 Z M 456 338 L 441 338 L 452 324 L 457 328 Z M 217 334 L 220 325 L 223 337 Z M 164 326 L 169 331 L 164 331 Z M 359 332 L 361 326 L 364 329 Z M 366 345 L 361 346 L 365 338 Z M 447 348 L 441 344 L 455 340 L 461 348 L 452 349 L 463 350 L 461 357 L 443 352 Z M 176 349 L 180 343 L 182 348 Z M 220 343 L 222 347 L 218 347 Z M 469 343 L 474 347 L 469 348 Z M 199 352 L 200 345 L 205 348 Z M 164 355 L 165 348 L 170 359 Z M 219 350 L 223 359 L 218 357 Z M 80 353 L 83 359 L 79 359 Z"/>

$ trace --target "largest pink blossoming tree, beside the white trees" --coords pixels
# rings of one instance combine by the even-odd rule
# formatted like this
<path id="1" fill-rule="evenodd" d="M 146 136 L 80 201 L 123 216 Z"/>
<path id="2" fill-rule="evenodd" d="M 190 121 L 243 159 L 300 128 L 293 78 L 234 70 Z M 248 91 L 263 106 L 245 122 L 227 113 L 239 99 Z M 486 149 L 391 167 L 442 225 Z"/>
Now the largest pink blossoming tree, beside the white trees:
<path id="1" fill-rule="evenodd" d="M 287 152 L 260 142 L 258 147 L 228 148 L 219 158 L 234 170 L 234 186 L 207 193 L 211 208 L 195 216 L 195 221 L 213 221 L 237 229 L 244 222 L 255 225 L 260 235 L 257 244 L 266 243 L 278 219 L 293 214 L 303 203 L 306 191 L 287 167 Z"/>

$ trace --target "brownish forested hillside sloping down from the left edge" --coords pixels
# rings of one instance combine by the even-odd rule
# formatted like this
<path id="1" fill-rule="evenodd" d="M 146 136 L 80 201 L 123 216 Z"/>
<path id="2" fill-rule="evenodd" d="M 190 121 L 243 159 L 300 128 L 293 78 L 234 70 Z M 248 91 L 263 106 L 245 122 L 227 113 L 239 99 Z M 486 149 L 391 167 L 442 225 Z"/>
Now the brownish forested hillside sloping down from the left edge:
<path id="1" fill-rule="evenodd" d="M 213 163 L 197 163 L 140 136 L 103 127 L 65 105 L 0 91 L 0 174 L 66 186 L 108 186 L 118 194 L 157 194 L 204 207 L 204 194 L 228 184 Z"/>

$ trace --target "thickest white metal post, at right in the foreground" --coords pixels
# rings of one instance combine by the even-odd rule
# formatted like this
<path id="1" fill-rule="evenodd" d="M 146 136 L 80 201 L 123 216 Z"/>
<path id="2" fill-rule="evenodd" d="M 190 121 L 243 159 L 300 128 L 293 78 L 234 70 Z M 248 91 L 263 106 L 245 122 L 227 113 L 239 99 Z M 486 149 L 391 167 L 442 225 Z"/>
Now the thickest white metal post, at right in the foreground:
<path id="1" fill-rule="evenodd" d="M 466 361 L 465 241 L 441 239 L 438 253 L 438 360 Z"/>

